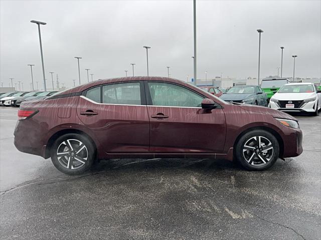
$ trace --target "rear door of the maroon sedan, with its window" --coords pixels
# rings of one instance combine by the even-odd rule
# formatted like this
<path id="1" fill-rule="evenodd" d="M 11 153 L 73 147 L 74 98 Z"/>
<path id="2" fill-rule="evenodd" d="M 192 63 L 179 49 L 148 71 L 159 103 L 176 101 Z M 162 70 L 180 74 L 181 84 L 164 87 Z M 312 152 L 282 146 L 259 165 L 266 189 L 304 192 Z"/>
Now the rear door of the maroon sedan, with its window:
<path id="1" fill-rule="evenodd" d="M 79 119 L 97 136 L 106 154 L 148 152 L 149 117 L 146 105 L 100 103 L 92 100 L 137 103 L 139 84 L 138 89 L 137 85 L 128 83 L 113 85 L 99 86 L 102 93 L 99 93 L 99 97 L 95 90 L 87 90 L 86 96 L 80 96 L 77 105 Z M 131 92 L 135 95 L 131 96 Z"/>

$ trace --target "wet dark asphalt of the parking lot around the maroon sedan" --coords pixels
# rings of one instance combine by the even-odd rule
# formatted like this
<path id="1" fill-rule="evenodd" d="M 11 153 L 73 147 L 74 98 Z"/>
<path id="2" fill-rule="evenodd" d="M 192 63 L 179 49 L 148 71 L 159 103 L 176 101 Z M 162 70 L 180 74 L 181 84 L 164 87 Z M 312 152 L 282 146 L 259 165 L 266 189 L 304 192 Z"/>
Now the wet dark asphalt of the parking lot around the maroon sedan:
<path id="1" fill-rule="evenodd" d="M 303 153 L 263 172 L 224 160 L 114 159 L 68 176 L 19 152 L 18 109 L 0 108 L 1 239 L 321 238 L 321 113 L 296 116 Z"/>

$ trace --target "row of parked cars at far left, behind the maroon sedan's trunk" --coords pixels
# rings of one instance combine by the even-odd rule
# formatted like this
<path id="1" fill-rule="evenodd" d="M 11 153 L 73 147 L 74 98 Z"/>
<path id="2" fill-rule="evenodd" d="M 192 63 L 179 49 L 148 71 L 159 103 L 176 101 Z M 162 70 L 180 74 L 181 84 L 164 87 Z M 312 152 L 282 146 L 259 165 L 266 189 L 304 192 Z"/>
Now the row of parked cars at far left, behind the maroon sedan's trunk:
<path id="1" fill-rule="evenodd" d="M 44 99 L 55 94 L 57 91 L 13 91 L 0 93 L 0 105 L 20 106 L 23 101 Z"/>

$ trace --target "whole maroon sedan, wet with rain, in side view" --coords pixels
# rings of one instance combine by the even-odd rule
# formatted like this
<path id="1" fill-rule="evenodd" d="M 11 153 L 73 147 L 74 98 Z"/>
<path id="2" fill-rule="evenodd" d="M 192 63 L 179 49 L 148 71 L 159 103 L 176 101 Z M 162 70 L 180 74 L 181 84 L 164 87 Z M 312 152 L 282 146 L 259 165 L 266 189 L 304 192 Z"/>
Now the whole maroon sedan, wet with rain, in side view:
<path id="1" fill-rule="evenodd" d="M 23 102 L 15 145 L 51 157 L 67 174 L 96 159 L 236 159 L 249 170 L 302 152 L 296 118 L 261 106 L 228 103 L 168 77 L 103 79 Z"/>

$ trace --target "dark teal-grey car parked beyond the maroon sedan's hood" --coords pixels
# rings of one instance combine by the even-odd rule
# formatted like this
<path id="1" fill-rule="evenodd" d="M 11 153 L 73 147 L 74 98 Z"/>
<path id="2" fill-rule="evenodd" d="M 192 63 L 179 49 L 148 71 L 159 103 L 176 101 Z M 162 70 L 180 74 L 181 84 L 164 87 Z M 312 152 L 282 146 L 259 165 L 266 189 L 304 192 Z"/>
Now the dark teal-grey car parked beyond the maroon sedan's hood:
<path id="1" fill-rule="evenodd" d="M 267 106 L 267 94 L 257 85 L 233 86 L 222 95 L 225 101 Z"/>

